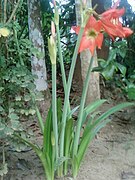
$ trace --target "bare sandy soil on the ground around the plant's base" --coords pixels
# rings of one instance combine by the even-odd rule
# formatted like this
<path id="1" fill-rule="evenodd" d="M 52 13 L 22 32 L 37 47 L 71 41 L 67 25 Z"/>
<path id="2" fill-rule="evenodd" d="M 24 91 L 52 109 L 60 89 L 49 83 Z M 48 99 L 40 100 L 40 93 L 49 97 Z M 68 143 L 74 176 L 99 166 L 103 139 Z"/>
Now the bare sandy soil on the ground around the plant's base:
<path id="1" fill-rule="evenodd" d="M 112 105 L 112 101 L 105 104 L 102 111 Z M 110 118 L 111 123 L 90 145 L 77 180 L 135 180 L 135 111 L 129 108 Z M 40 139 L 38 133 L 37 141 Z M 31 149 L 24 152 L 8 150 L 6 161 L 8 174 L 4 180 L 45 179 L 42 165 Z"/>

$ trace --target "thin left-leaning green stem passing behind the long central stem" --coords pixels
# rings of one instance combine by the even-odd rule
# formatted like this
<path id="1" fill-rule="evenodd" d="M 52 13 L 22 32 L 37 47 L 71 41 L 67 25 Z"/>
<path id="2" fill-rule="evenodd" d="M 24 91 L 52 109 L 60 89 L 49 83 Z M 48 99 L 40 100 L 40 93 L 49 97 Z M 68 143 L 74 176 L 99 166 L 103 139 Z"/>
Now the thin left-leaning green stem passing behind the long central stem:
<path id="1" fill-rule="evenodd" d="M 63 86 L 64 86 L 64 93 L 66 93 L 66 87 L 67 87 L 67 82 L 66 82 L 66 74 L 65 74 L 65 68 L 64 68 L 64 61 L 63 61 L 63 56 L 62 56 L 62 50 L 61 50 L 61 43 L 60 43 L 60 30 L 59 30 L 59 25 L 56 25 L 56 31 L 57 31 L 57 39 L 58 39 L 58 53 L 59 53 L 59 61 L 60 61 L 60 67 L 61 67 L 61 73 L 62 73 L 62 81 L 63 81 Z M 68 100 L 68 113 L 70 112 L 70 103 Z"/>

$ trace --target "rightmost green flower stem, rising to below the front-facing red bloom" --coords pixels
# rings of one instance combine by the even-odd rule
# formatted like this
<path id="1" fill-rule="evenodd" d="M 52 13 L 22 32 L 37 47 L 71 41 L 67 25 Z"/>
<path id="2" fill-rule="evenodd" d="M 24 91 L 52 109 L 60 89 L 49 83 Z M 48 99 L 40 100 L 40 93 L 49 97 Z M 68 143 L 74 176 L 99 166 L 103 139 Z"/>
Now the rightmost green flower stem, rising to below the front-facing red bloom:
<path id="1" fill-rule="evenodd" d="M 89 81 L 90 81 L 90 74 L 92 71 L 92 64 L 93 64 L 94 57 L 91 57 L 89 68 L 87 71 L 86 79 L 84 82 L 84 87 L 83 87 L 83 92 L 82 92 L 82 97 L 81 97 L 81 103 L 80 103 L 80 111 L 78 115 L 78 120 L 77 120 L 77 127 L 76 127 L 76 132 L 75 132 L 75 137 L 74 137 L 74 145 L 73 145 L 73 155 L 77 154 L 78 150 L 78 145 L 79 145 L 79 139 L 80 139 L 80 130 L 81 130 L 81 125 L 82 125 L 82 117 L 83 117 L 83 110 L 85 106 L 85 100 L 87 96 L 87 90 L 89 86 Z"/>

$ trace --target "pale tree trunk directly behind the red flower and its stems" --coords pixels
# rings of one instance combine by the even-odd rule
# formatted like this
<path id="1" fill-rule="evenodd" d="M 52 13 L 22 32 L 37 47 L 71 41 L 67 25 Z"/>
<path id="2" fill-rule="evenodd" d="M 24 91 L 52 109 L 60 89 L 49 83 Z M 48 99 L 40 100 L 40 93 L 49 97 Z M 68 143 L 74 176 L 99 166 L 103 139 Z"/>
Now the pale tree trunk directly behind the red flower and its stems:
<path id="1" fill-rule="evenodd" d="M 75 0 L 75 6 L 76 6 L 77 25 L 80 25 L 80 19 L 81 19 L 80 18 L 80 0 Z M 91 0 L 87 0 L 87 7 L 91 7 Z M 82 77 L 83 82 L 85 81 L 87 69 L 89 67 L 90 57 L 91 57 L 90 51 L 85 50 L 84 52 L 80 54 L 80 62 L 79 60 L 77 61 L 77 63 L 81 63 L 81 65 L 78 66 L 78 67 L 81 67 L 80 71 L 78 72 L 81 72 L 81 77 Z M 97 66 L 97 56 L 95 55 L 93 67 L 96 67 L 96 66 Z M 79 76 L 79 74 L 76 73 L 75 76 Z M 100 99 L 99 73 L 93 72 L 91 73 L 90 83 L 88 87 L 86 105 L 90 104 L 91 102 L 97 99 Z"/>

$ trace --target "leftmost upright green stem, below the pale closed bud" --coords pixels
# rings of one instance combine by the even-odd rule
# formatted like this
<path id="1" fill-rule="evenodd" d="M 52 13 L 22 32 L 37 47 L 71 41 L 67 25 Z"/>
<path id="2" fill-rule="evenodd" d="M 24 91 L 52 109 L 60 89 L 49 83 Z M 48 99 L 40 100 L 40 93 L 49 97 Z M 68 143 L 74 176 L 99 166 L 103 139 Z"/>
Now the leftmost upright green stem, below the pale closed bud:
<path id="1" fill-rule="evenodd" d="M 58 124 L 57 124 L 57 96 L 56 96 L 56 64 L 52 64 L 52 114 L 53 131 L 55 136 L 56 160 L 58 158 Z"/>

